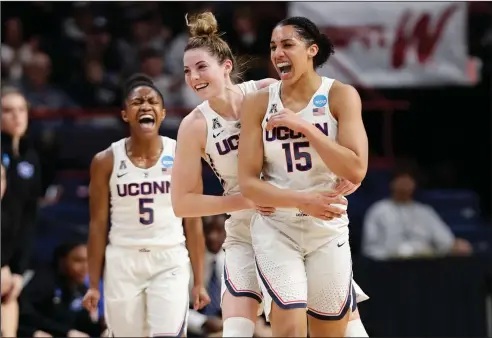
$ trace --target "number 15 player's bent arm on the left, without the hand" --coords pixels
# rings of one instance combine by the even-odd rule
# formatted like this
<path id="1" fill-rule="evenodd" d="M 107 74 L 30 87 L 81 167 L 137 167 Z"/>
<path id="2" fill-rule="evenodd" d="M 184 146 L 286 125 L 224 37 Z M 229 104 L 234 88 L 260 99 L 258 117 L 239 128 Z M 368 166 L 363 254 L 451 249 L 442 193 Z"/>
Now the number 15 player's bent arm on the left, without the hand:
<path id="1" fill-rule="evenodd" d="M 277 188 L 260 179 L 263 168 L 263 129 L 268 106 L 268 90 L 246 95 L 241 106 L 239 138 L 239 187 L 244 197 L 257 205 L 299 208 L 306 195 Z"/>

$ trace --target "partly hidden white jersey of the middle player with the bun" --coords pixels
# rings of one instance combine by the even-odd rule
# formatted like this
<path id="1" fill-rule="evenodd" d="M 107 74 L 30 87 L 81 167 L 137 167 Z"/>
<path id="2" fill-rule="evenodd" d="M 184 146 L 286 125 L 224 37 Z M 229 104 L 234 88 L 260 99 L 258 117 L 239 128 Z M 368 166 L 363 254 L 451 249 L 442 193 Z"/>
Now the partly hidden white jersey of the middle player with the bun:
<path id="1" fill-rule="evenodd" d="M 244 95 L 257 91 L 255 81 L 238 85 Z M 208 101 L 202 102 L 198 109 L 207 121 L 207 143 L 205 161 L 214 171 L 224 188 L 224 195 L 239 194 L 238 159 L 240 121 L 227 121 L 210 107 Z M 253 211 L 243 210 L 231 213 L 235 218 L 251 217 Z"/>

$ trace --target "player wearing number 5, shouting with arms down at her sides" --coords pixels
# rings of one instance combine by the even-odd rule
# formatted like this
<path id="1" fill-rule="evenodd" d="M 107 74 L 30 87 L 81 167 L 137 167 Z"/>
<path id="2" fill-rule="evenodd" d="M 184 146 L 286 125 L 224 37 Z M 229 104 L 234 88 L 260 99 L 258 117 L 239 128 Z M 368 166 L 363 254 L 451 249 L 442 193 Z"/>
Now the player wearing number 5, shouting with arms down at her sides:
<path id="1" fill-rule="evenodd" d="M 98 153 L 91 164 L 90 289 L 84 305 L 96 311 L 105 259 L 105 318 L 114 336 L 181 337 L 190 271 L 182 221 L 170 197 L 176 142 L 158 134 L 163 97 L 149 78 L 133 76 L 125 94 L 121 114 L 130 137 Z M 198 309 L 209 301 L 202 286 L 203 230 L 200 222 L 186 221 Z"/>

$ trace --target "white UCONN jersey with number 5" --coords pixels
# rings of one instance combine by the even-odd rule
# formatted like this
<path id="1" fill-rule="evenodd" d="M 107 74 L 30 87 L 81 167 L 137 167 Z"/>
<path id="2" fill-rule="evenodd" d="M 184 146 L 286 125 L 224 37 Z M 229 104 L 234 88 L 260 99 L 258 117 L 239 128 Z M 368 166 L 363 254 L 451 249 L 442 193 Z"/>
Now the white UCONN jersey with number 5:
<path id="1" fill-rule="evenodd" d="M 148 169 L 128 158 L 122 139 L 111 145 L 114 164 L 109 181 L 109 241 L 121 246 L 174 246 L 185 242 L 181 218 L 171 205 L 171 170 L 176 141 L 161 137 L 159 160 Z"/>

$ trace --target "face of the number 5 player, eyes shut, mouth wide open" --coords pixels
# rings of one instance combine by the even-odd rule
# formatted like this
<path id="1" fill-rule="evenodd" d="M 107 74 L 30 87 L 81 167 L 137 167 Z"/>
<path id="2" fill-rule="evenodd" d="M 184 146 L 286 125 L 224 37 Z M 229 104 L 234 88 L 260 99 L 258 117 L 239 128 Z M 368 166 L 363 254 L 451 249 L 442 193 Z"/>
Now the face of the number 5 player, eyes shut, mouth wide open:
<path id="1" fill-rule="evenodd" d="M 160 95 L 151 87 L 133 89 L 125 102 L 122 118 L 130 129 L 140 136 L 155 136 L 166 116 Z"/>

